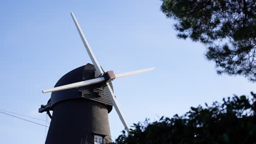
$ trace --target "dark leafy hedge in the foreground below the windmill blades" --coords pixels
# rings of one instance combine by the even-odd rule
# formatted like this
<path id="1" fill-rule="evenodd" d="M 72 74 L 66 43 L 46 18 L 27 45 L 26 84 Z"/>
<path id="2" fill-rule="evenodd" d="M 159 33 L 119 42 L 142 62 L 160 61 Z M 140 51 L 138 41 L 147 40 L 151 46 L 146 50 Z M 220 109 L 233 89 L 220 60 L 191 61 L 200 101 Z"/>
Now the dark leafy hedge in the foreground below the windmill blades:
<path id="1" fill-rule="evenodd" d="M 205 107 L 191 107 L 183 116 L 134 124 L 113 144 L 256 143 L 256 94 L 223 99 Z"/>

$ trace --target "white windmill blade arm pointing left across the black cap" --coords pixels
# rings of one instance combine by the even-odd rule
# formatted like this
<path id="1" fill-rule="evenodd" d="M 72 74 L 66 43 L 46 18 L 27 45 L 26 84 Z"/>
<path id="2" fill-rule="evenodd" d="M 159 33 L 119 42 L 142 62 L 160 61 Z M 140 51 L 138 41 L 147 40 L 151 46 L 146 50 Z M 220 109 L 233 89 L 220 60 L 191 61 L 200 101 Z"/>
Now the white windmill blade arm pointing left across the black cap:
<path id="1" fill-rule="evenodd" d="M 45 89 L 45 90 L 43 90 L 43 93 L 61 91 L 61 90 L 64 90 L 64 89 L 75 88 L 75 87 L 82 87 L 82 86 L 86 86 L 86 85 L 91 85 L 91 84 L 94 84 L 94 83 L 102 82 L 104 80 L 105 80 L 104 77 L 98 77 L 96 79 L 80 81 L 80 82 L 71 83 L 69 85 L 64 85 L 64 86 L 60 86 L 60 87 L 54 87 L 54 88 L 50 88 L 50 89 Z"/>

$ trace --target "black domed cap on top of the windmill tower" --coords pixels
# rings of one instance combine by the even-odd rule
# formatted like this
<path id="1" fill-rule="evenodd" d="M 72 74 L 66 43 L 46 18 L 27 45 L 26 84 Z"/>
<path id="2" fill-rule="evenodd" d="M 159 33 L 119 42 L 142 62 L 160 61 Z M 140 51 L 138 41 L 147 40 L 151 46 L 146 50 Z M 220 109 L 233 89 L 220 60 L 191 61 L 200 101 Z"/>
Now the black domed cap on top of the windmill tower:
<path id="1" fill-rule="evenodd" d="M 82 67 L 76 68 L 63 75 L 59 81 L 57 81 L 54 87 L 68 85 L 75 82 L 95 79 L 94 65 L 88 63 Z M 109 82 L 110 86 L 113 86 Z M 79 88 L 64 89 L 62 91 L 56 91 L 51 93 L 51 107 L 56 103 L 68 99 L 89 99 L 97 101 L 108 107 L 108 112 L 113 108 L 112 102 L 109 99 L 107 92 L 102 88 L 103 83 L 96 83 L 93 85 L 83 86 Z"/>

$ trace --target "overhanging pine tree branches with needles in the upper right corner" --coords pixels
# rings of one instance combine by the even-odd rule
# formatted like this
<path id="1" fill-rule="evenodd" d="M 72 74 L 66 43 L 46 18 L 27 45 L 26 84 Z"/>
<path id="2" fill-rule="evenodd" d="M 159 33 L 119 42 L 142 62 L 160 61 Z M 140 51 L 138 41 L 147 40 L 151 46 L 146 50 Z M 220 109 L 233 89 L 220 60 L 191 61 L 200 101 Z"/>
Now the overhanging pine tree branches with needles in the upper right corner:
<path id="1" fill-rule="evenodd" d="M 175 20 L 177 37 L 200 41 L 218 74 L 243 75 L 256 82 L 256 3 L 254 0 L 162 0 Z"/>

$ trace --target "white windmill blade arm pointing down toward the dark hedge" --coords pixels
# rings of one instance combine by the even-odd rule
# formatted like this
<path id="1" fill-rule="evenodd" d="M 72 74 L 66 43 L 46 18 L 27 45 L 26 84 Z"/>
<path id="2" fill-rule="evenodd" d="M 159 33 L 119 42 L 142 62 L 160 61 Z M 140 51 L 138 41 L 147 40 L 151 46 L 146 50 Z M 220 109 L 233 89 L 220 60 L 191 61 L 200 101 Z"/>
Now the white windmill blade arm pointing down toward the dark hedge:
<path id="1" fill-rule="evenodd" d="M 106 89 L 106 91 L 107 91 L 107 93 L 109 95 L 110 100 L 112 101 L 113 106 L 115 107 L 115 111 L 117 111 L 118 116 L 121 119 L 121 122 L 123 123 L 123 125 L 125 127 L 125 130 L 129 134 L 130 131 L 129 131 L 128 124 L 125 121 L 124 114 L 123 114 L 123 112 L 121 112 L 121 109 L 120 109 L 120 107 L 119 107 L 119 105 L 117 103 L 117 99 L 115 99 L 115 95 L 114 95 L 114 93 L 112 91 L 112 88 L 110 87 L 109 83 L 107 83 L 107 86 L 105 87 L 105 89 Z"/>

